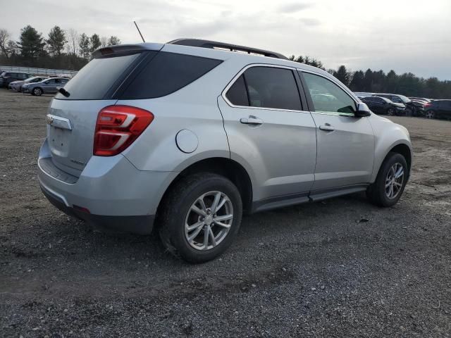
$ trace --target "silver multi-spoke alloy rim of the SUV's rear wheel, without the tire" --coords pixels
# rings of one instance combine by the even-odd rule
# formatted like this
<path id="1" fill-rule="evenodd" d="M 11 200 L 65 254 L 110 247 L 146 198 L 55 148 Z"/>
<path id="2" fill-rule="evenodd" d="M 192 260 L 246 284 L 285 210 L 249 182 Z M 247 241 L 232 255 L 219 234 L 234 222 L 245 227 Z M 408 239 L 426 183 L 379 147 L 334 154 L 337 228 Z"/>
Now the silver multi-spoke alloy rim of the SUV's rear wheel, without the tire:
<path id="1" fill-rule="evenodd" d="M 232 201 L 223 192 L 206 192 L 191 205 L 185 218 L 185 239 L 197 250 L 223 242 L 233 223 Z"/>

